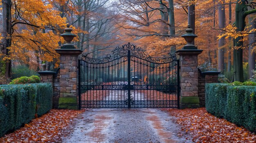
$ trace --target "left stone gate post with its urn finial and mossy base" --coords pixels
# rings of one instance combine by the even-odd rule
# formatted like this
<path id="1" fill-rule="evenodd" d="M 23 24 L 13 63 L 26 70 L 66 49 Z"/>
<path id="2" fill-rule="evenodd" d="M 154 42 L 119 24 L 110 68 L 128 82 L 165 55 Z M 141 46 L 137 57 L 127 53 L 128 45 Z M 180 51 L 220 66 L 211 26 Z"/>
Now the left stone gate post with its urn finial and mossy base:
<path id="1" fill-rule="evenodd" d="M 58 100 L 58 108 L 78 109 L 78 92 L 77 92 L 77 66 L 78 55 L 83 51 L 76 49 L 71 44 L 76 35 L 71 33 L 72 29 L 67 24 L 65 33 L 61 36 L 65 39 L 63 44 L 56 52 L 60 54 L 60 98 Z"/>

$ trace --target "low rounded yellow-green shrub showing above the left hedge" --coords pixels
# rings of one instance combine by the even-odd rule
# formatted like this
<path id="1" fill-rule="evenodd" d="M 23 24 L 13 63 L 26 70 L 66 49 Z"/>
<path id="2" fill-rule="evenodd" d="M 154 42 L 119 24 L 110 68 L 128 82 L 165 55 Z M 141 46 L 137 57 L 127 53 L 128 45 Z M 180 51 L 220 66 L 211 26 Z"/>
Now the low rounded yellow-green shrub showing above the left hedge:
<path id="1" fill-rule="evenodd" d="M 10 84 L 32 84 L 32 83 L 39 83 L 40 78 L 36 75 L 32 75 L 31 77 L 19 77 L 13 79 Z"/>

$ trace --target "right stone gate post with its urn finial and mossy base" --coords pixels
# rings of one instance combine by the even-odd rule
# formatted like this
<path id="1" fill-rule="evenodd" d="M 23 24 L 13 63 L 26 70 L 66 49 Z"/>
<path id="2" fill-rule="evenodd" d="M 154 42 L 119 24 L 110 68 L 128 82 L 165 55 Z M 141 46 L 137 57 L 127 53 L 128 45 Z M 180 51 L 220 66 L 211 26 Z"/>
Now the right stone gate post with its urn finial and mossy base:
<path id="1" fill-rule="evenodd" d="M 197 35 L 193 34 L 193 29 L 188 26 L 186 34 L 182 35 L 187 44 L 182 47 L 181 50 L 176 51 L 180 55 L 181 66 L 181 99 L 180 108 L 199 108 L 200 101 L 198 97 L 198 55 L 203 50 L 198 50 L 195 45 L 192 44 Z"/>

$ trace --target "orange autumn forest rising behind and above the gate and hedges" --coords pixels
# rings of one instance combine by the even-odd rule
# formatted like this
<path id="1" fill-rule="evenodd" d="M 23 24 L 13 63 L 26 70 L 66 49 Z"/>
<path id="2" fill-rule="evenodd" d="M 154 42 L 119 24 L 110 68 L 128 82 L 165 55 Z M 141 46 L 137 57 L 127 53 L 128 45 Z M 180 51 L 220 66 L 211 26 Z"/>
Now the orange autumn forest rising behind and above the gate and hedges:
<path id="1" fill-rule="evenodd" d="M 11 69 L 20 66 L 39 71 L 42 63 L 47 70 L 57 68 L 55 49 L 64 42 L 60 34 L 67 23 L 78 35 L 76 47 L 91 57 L 104 57 L 128 42 L 153 57 L 175 53 L 186 43 L 180 36 L 188 16 L 195 14 L 195 45 L 204 50 L 199 55 L 200 67 L 216 68 L 229 80 L 244 81 L 255 69 L 255 2 L 2 0 L 1 75 L 11 77 Z"/>

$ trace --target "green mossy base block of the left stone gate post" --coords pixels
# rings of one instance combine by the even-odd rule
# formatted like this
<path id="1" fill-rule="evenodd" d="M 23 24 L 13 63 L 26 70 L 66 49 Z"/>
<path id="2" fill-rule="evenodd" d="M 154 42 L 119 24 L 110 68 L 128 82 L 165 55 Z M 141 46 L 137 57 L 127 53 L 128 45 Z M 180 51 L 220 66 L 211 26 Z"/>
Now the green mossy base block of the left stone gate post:
<path id="1" fill-rule="evenodd" d="M 58 99 L 58 108 L 78 110 L 77 97 L 60 97 Z"/>

